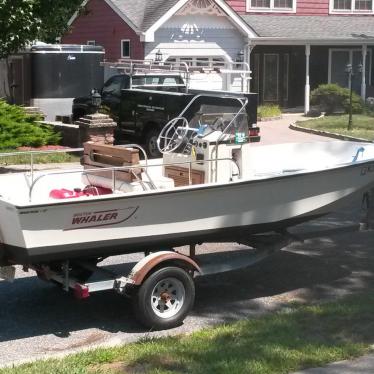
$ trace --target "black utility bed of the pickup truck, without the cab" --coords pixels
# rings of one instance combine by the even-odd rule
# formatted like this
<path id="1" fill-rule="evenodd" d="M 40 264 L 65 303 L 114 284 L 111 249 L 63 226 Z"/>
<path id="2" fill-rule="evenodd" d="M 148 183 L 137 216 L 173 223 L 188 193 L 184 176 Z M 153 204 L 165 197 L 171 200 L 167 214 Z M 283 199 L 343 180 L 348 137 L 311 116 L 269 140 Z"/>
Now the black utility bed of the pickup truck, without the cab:
<path id="1" fill-rule="evenodd" d="M 168 121 L 177 117 L 196 95 L 212 96 L 210 108 L 191 107 L 190 114 L 202 111 L 209 114 L 214 108 L 214 95 L 217 98 L 238 97 L 247 98 L 248 104 L 245 109 L 245 121 L 248 124 L 248 140 L 256 142 L 260 140 L 259 128 L 257 127 L 257 94 L 235 94 L 229 92 L 213 92 L 201 90 L 189 90 L 188 93 L 181 92 L 161 92 L 147 89 L 124 89 L 121 92 L 118 126 L 115 132 L 117 143 L 138 142 L 145 146 L 150 157 L 160 157 L 157 148 L 157 138 L 161 129 Z M 217 100 L 218 101 L 218 100 Z M 239 103 L 236 108 L 222 108 L 220 110 L 230 118 L 240 108 Z"/>

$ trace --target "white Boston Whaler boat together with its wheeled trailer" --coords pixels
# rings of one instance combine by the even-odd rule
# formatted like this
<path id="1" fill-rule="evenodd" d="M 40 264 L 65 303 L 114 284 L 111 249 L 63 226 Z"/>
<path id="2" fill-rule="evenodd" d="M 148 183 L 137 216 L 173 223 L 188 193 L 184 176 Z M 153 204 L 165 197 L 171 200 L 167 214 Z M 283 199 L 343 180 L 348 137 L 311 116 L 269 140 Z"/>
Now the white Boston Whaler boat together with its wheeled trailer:
<path id="1" fill-rule="evenodd" d="M 206 113 L 188 114 L 196 100 Z M 12 265 L 23 264 L 79 298 L 114 289 L 134 299 L 147 327 L 170 328 L 191 310 L 192 277 L 204 273 L 196 244 L 251 243 L 253 235 L 327 214 L 374 186 L 374 144 L 253 146 L 245 98 L 222 100 L 224 113 L 220 105 L 204 107 L 202 96 L 170 121 L 158 139 L 160 160 L 139 161 L 135 145 L 87 143 L 84 168 L 1 175 L 0 278 L 12 279 Z M 186 244 L 190 257 L 172 250 Z M 96 267 L 105 257 L 143 251 L 153 253 L 125 276 Z M 243 264 L 272 251 L 255 251 Z M 92 270 L 102 280 L 90 281 Z"/>

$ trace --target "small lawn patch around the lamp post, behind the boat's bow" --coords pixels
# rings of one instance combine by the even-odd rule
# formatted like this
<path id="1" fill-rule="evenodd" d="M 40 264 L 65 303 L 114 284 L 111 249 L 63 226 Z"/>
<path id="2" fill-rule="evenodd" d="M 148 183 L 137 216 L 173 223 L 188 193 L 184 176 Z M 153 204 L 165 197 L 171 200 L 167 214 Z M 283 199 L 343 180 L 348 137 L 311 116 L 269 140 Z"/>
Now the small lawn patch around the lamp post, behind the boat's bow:
<path id="1" fill-rule="evenodd" d="M 374 140 L 374 117 L 353 115 L 352 130 L 348 130 L 348 115 L 325 116 L 323 118 L 302 121 L 297 124 L 314 130 L 328 131 L 335 134 Z"/>

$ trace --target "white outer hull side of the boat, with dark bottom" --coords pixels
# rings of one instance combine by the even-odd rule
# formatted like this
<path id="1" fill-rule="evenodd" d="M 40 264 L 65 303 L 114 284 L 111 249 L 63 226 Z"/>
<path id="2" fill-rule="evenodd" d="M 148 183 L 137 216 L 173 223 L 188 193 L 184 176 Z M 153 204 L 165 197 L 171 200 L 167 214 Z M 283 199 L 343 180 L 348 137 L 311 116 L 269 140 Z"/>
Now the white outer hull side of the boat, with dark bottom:
<path id="1" fill-rule="evenodd" d="M 327 144 L 332 151 L 343 147 L 342 142 L 323 146 Z M 303 147 L 307 153 L 307 146 Z M 344 144 L 351 159 L 362 147 L 360 143 Z M 272 149 L 253 147 L 248 157 L 255 159 L 260 148 Z M 365 152 L 373 153 L 371 148 L 373 145 L 366 144 Z M 372 158 L 323 170 L 267 169 L 225 184 L 24 205 L 2 199 L 1 255 L 24 264 L 107 257 L 206 241 L 240 242 L 249 234 L 287 228 L 329 213 L 374 183 Z"/>

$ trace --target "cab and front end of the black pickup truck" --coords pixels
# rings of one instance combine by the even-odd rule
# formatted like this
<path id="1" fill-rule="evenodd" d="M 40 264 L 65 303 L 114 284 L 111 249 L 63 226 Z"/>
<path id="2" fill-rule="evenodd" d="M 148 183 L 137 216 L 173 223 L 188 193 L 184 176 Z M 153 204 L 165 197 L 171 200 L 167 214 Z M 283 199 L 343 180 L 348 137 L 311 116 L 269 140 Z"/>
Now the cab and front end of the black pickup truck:
<path id="1" fill-rule="evenodd" d="M 102 106 L 110 114 L 114 121 L 118 122 L 121 102 L 121 90 L 127 88 L 148 88 L 160 91 L 184 92 L 185 83 L 179 74 L 118 74 L 109 78 L 99 90 L 102 98 Z M 91 103 L 91 95 L 77 97 L 73 100 L 73 121 L 94 113 Z"/>

